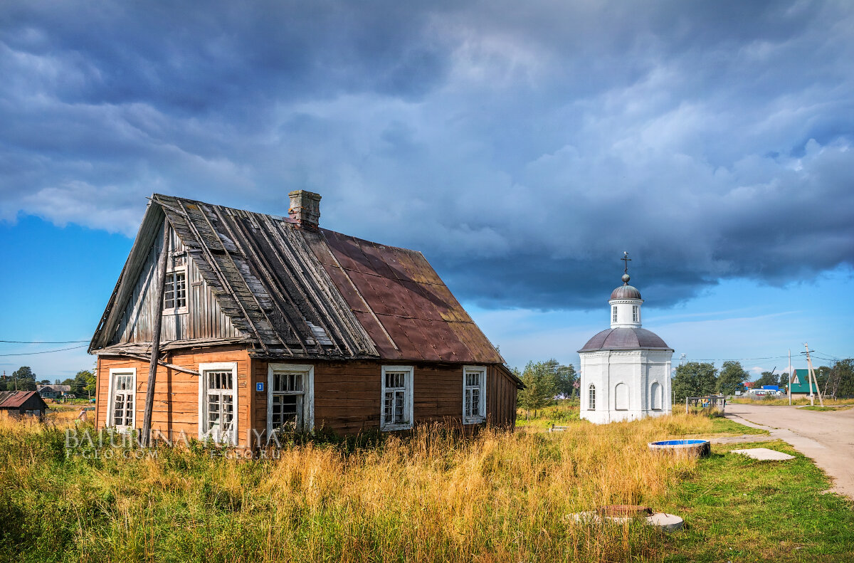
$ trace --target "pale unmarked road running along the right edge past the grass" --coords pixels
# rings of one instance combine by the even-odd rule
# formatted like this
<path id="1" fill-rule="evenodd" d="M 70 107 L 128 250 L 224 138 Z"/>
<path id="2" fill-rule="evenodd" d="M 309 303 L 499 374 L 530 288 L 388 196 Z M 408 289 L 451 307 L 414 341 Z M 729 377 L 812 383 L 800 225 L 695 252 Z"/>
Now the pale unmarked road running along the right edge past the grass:
<path id="1" fill-rule="evenodd" d="M 854 499 L 854 408 L 808 411 L 796 407 L 727 405 L 727 415 L 767 427 L 834 478 L 834 492 Z"/>

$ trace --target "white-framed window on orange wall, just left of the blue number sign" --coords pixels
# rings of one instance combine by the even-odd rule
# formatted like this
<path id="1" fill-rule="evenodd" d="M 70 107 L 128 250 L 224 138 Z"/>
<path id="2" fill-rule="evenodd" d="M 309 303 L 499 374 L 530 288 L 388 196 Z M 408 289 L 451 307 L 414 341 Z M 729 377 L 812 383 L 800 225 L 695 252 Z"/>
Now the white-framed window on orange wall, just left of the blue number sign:
<path id="1" fill-rule="evenodd" d="M 237 444 L 237 363 L 199 364 L 199 439 Z"/>

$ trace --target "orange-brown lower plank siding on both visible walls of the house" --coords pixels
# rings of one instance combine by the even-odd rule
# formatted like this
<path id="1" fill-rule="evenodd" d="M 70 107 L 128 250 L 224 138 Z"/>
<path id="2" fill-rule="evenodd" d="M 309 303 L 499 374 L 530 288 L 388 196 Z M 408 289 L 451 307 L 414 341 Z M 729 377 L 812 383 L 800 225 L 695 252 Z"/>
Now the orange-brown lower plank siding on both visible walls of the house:
<path id="1" fill-rule="evenodd" d="M 251 431 L 266 431 L 268 362 L 252 359 L 245 349 L 177 351 L 167 362 L 197 370 L 200 363 L 237 361 L 237 431 L 240 444 L 252 441 Z M 309 363 L 309 362 L 294 362 Z M 376 429 L 381 406 L 382 364 L 373 361 L 311 362 L 314 366 L 314 424 L 341 434 Z M 106 425 L 110 368 L 137 368 L 137 428 L 142 426 L 149 364 L 117 357 L 98 358 L 97 426 Z M 416 424 L 462 419 L 461 365 L 414 365 L 413 417 Z M 264 383 L 263 391 L 255 384 Z M 198 376 L 167 367 L 157 368 L 152 430 L 176 437 L 184 431 L 198 436 Z M 494 425 L 516 421 L 516 383 L 499 367 L 488 367 L 487 416 Z M 169 433 L 171 432 L 171 434 Z"/>

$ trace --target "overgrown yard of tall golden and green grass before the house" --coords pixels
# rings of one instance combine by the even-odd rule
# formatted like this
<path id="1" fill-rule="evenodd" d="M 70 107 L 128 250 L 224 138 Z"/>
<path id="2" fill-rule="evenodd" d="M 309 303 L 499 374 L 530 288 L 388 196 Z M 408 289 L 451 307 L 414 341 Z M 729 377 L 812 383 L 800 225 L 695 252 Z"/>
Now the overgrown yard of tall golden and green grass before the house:
<path id="1" fill-rule="evenodd" d="M 653 455 L 664 437 L 738 431 L 678 414 L 567 431 L 483 431 L 294 445 L 278 460 L 159 449 L 66 457 L 62 423 L 0 420 L 0 557 L 50 561 L 623 561 L 854 558 L 851 501 L 809 460 Z M 64 423 L 68 424 L 68 423 Z M 543 426 L 544 427 L 544 426 Z M 745 429 L 745 431 L 749 431 Z M 781 443 L 764 444 L 789 451 Z M 91 452 L 93 450 L 87 450 Z M 639 503 L 685 517 L 582 525 Z"/>

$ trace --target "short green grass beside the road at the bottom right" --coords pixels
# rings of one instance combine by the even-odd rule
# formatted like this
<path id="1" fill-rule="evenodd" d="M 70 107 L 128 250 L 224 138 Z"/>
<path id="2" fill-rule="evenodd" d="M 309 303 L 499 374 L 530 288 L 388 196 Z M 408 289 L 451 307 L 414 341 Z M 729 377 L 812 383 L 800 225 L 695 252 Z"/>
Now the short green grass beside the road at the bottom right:
<path id="1" fill-rule="evenodd" d="M 752 443 L 795 456 L 758 461 L 730 455 L 743 444 L 714 446 L 693 477 L 665 496 L 685 519 L 667 537 L 672 563 L 703 561 L 854 561 L 854 505 L 825 494 L 830 483 L 809 459 L 781 441 Z"/>

